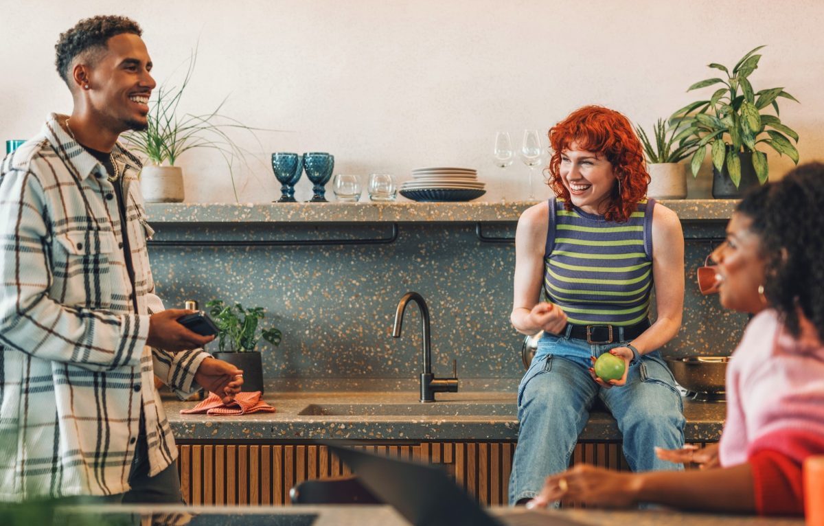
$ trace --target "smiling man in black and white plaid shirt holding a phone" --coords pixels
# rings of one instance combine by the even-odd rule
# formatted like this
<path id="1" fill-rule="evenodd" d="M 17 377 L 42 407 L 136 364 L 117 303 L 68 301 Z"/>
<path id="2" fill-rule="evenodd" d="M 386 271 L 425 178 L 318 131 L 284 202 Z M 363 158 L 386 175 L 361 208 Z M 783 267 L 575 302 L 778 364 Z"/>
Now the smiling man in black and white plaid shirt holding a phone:
<path id="1" fill-rule="evenodd" d="M 154 295 L 141 163 L 152 62 L 128 18 L 60 35 L 71 115 L 51 115 L 0 171 L 0 500 L 181 502 L 154 378 L 230 402 L 242 372 Z"/>

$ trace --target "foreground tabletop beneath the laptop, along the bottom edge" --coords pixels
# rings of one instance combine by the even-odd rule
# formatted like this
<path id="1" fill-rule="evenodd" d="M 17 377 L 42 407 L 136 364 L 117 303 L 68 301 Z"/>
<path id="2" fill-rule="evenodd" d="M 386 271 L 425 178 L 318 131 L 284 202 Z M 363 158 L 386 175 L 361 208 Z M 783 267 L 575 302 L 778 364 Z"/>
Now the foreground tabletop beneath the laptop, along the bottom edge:
<path id="1" fill-rule="evenodd" d="M 803 526 L 804 519 L 763 518 L 729 514 L 695 514 L 666 510 L 533 510 L 507 507 L 488 508 L 506 524 L 512 517 L 520 524 L 526 517 L 537 515 L 544 524 L 633 524 L 634 526 Z M 100 514 L 105 519 L 136 519 L 143 524 L 183 526 L 196 518 L 202 526 L 237 526 L 237 524 L 269 524 L 270 526 L 405 526 L 410 524 L 388 505 L 303 505 L 303 506 L 172 506 L 172 505 L 104 505 L 75 507 L 65 514 L 82 513 L 85 517 Z M 129 515 L 127 515 L 129 514 Z M 135 515 L 130 515 L 135 514 Z M 541 522 L 541 519 L 535 522 Z M 532 523 L 531 517 L 528 519 Z M 129 522 L 129 521 L 127 521 Z M 104 524 L 110 524 L 106 522 Z"/>

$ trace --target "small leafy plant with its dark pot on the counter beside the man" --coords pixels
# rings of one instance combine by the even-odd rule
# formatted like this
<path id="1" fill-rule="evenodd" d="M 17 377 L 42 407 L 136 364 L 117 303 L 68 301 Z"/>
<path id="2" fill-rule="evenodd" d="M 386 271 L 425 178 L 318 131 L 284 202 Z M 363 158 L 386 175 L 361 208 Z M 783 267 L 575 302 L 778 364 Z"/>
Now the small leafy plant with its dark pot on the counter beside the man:
<path id="1" fill-rule="evenodd" d="M 255 350 L 262 337 L 272 345 L 280 345 L 281 332 L 260 327 L 265 317 L 262 307 L 243 308 L 240 303 L 225 305 L 220 299 L 206 303 L 218 326 L 218 352 L 214 357 L 235 365 L 243 371 L 243 391 L 264 391 L 263 360 Z"/>

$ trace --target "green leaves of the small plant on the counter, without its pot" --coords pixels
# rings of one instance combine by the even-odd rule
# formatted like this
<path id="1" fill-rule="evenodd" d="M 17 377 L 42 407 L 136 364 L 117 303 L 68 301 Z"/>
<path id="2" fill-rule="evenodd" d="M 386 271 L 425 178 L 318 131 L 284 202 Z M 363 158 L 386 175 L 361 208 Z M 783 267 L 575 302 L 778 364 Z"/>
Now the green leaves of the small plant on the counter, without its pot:
<path id="1" fill-rule="evenodd" d="M 220 352 L 250 352 L 262 337 L 272 345 L 280 345 L 281 332 L 271 327 L 263 329 L 259 322 L 265 317 L 262 307 L 243 308 L 240 303 L 225 305 L 220 299 L 206 303 L 218 326 Z"/>

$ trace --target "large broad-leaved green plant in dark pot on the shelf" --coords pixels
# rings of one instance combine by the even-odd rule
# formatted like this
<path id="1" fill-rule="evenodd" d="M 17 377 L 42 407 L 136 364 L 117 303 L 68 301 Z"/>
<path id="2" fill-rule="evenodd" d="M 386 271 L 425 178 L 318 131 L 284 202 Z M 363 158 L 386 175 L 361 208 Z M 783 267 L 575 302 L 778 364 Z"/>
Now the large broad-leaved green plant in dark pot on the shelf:
<path id="1" fill-rule="evenodd" d="M 695 82 L 686 91 L 717 84 L 723 87 L 716 89 L 708 100 L 692 102 L 671 117 L 671 121 L 678 120 L 685 126 L 677 134 L 677 140 L 698 139 L 698 149 L 690 162 L 693 176 L 698 174 L 709 146 L 715 198 L 737 198 L 748 187 L 767 181 L 767 157 L 757 148 L 759 144 L 787 155 L 798 164 L 798 150 L 790 141 L 793 139 L 797 144 L 798 134 L 781 123 L 778 99 L 798 101 L 784 92 L 783 87 L 756 92 L 749 80 L 761 59 L 756 51 L 763 47 L 760 45 L 745 54 L 732 71 L 719 63 L 709 64 L 709 68 L 722 71 L 727 78 L 713 77 Z M 765 113 L 770 107 L 775 110 L 775 115 Z"/>

